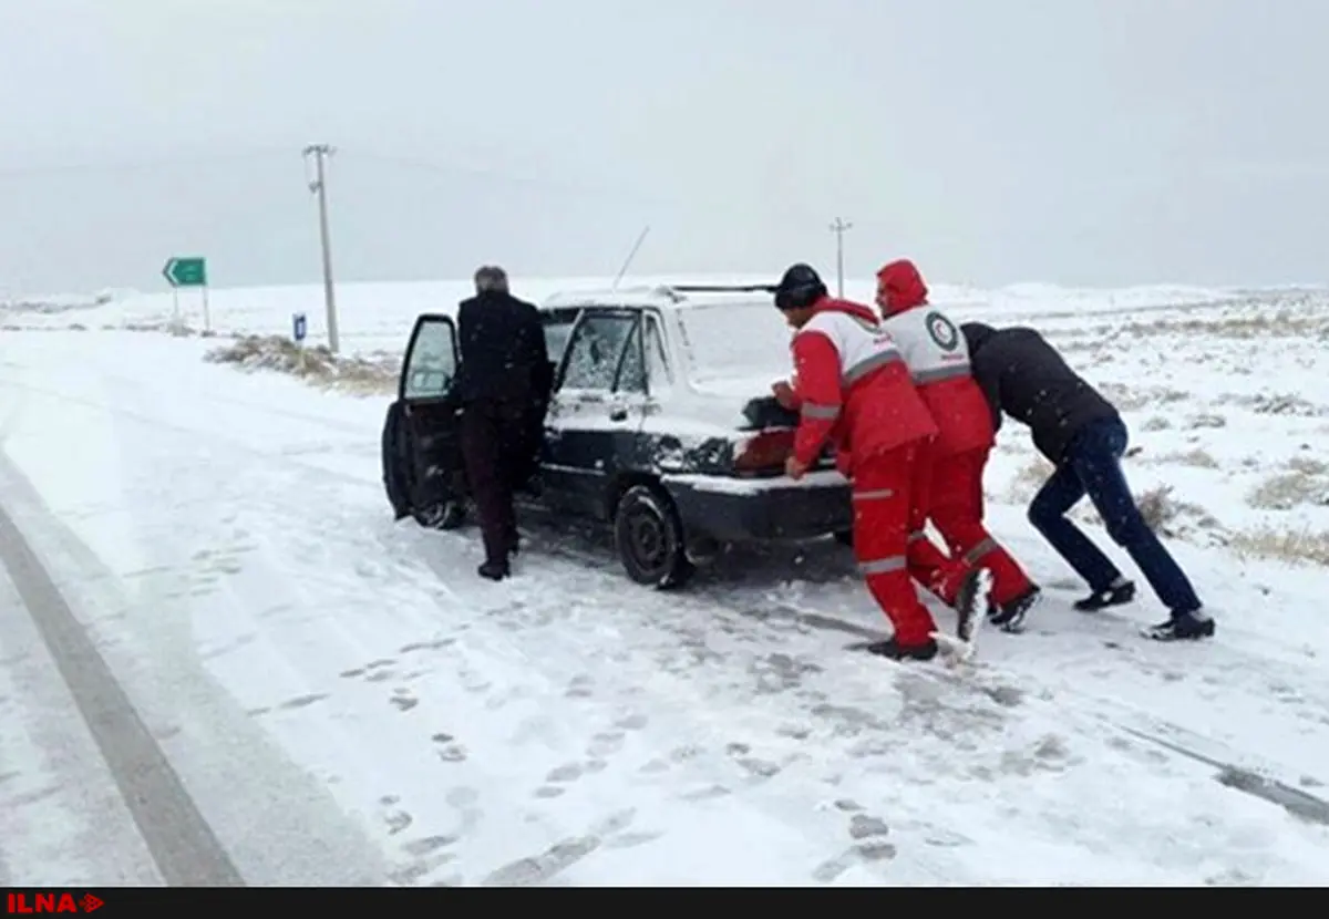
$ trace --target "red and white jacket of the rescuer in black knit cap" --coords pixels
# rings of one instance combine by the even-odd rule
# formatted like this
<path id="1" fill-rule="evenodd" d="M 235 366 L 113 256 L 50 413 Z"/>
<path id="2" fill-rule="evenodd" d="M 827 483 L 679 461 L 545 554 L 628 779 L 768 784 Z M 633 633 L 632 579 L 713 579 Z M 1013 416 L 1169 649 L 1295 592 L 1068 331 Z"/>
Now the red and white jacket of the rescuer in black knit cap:
<path id="1" fill-rule="evenodd" d="M 867 457 L 937 434 L 900 349 L 868 307 L 823 297 L 792 348 L 799 462 L 811 466 L 829 441 L 852 475 Z"/>

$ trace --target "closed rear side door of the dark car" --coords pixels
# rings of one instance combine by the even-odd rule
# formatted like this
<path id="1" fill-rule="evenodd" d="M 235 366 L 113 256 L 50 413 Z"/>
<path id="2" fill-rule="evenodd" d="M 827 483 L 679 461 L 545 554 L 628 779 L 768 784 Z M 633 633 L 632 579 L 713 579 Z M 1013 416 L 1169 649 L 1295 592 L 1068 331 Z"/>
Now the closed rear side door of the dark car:
<path id="1" fill-rule="evenodd" d="M 545 422 L 541 494 L 550 507 L 597 518 L 607 515 L 610 486 L 622 471 L 625 445 L 638 437 L 647 393 L 619 390 L 629 347 L 618 353 L 609 389 L 567 389 L 563 380 L 582 325 L 611 316 L 633 320 L 629 340 L 635 339 L 645 368 L 645 333 L 638 332 L 643 329 L 646 312 L 641 307 L 586 305 L 567 336 Z"/>

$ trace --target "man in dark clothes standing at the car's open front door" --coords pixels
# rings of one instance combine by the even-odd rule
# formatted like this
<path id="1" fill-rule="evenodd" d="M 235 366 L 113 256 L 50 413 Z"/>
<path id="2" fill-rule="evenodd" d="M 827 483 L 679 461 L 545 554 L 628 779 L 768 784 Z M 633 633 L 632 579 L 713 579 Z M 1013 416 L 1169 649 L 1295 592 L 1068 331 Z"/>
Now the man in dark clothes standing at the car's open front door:
<path id="1" fill-rule="evenodd" d="M 502 580 L 518 544 L 513 491 L 538 461 L 553 380 L 540 311 L 508 292 L 502 268 L 474 280 L 457 309 L 461 452 L 485 542 L 480 575 Z"/>

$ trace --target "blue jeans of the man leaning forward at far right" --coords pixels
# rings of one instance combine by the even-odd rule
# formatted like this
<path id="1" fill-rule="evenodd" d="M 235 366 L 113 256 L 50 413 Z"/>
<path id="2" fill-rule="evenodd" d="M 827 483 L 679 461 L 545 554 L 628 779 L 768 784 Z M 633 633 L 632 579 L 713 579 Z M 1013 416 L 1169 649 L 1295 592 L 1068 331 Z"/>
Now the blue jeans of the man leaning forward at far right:
<path id="1" fill-rule="evenodd" d="M 1126 442 L 1126 425 L 1119 418 L 1086 425 L 1071 441 L 1057 471 L 1034 497 L 1029 506 L 1029 522 L 1088 582 L 1092 591 L 1106 591 L 1122 578 L 1122 572 L 1066 517 L 1066 511 L 1087 494 L 1112 542 L 1131 554 L 1163 606 L 1172 612 L 1193 612 L 1200 608 L 1200 599 L 1191 580 L 1144 522 L 1126 483 L 1120 462 Z"/>

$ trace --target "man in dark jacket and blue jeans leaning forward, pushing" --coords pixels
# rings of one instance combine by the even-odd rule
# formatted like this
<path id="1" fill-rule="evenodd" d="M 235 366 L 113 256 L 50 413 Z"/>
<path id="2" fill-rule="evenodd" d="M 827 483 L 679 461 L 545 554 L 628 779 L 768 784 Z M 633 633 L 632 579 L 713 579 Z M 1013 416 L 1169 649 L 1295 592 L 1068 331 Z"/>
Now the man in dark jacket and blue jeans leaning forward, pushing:
<path id="1" fill-rule="evenodd" d="M 1075 608 L 1102 610 L 1135 599 L 1135 584 L 1066 517 L 1087 494 L 1108 535 L 1131 554 L 1171 611 L 1168 622 L 1146 633 L 1162 641 L 1213 635 L 1213 620 L 1201 608 L 1189 579 L 1131 497 L 1120 463 L 1127 430 L 1116 408 L 1034 329 L 966 323 L 961 331 L 969 343 L 974 377 L 991 406 L 993 424 L 999 428 L 1005 412 L 1029 425 L 1034 446 L 1057 466 L 1029 506 L 1029 521 L 1088 582 L 1092 594 Z"/>

